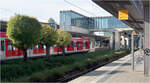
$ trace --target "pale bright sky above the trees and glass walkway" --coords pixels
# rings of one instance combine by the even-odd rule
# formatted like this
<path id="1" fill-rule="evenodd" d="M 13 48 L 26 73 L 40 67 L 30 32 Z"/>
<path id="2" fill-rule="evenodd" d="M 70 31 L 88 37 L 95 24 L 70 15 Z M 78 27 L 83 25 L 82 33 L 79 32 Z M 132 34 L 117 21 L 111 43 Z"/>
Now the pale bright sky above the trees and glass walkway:
<path id="1" fill-rule="evenodd" d="M 53 18 L 59 24 L 59 12 L 62 10 L 73 10 L 89 17 L 111 16 L 91 0 L 0 0 L 0 20 L 9 20 L 15 14 L 24 14 L 34 16 L 41 22 L 48 22 L 49 18 Z"/>

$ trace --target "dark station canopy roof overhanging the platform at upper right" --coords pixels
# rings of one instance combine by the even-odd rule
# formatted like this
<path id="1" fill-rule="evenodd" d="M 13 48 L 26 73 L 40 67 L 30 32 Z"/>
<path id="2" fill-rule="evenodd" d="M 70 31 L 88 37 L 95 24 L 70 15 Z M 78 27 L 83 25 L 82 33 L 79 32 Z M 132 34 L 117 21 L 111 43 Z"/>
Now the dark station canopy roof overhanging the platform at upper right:
<path id="1" fill-rule="evenodd" d="M 144 29 L 144 6 L 149 6 L 149 0 L 93 0 L 97 5 L 118 17 L 119 10 L 128 10 L 128 20 L 124 23 L 143 33 Z"/>

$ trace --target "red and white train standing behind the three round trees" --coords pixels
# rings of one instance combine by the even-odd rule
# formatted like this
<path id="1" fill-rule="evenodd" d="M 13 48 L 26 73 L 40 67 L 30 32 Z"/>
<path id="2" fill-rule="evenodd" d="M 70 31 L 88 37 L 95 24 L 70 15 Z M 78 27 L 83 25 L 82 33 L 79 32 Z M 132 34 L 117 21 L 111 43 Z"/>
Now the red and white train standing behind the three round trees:
<path id="1" fill-rule="evenodd" d="M 17 49 L 6 36 L 6 32 L 0 32 L 0 60 L 18 59 L 23 58 L 22 50 Z M 44 56 L 46 54 L 45 45 L 33 45 L 32 48 L 27 50 L 28 57 Z M 65 47 L 66 53 L 87 52 L 90 49 L 88 38 L 72 38 L 71 44 Z M 51 55 L 62 53 L 61 48 L 56 45 L 51 47 Z"/>

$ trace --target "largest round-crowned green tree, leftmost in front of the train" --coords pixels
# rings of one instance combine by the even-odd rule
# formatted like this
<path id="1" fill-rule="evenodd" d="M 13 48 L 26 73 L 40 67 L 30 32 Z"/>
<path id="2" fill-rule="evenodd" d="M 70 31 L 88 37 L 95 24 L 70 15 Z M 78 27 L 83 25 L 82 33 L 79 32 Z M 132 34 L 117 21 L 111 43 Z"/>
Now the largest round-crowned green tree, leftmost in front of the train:
<path id="1" fill-rule="evenodd" d="M 23 51 L 27 61 L 27 49 L 36 44 L 41 35 L 41 24 L 37 19 L 26 15 L 16 15 L 7 24 L 7 36 L 13 45 Z"/>

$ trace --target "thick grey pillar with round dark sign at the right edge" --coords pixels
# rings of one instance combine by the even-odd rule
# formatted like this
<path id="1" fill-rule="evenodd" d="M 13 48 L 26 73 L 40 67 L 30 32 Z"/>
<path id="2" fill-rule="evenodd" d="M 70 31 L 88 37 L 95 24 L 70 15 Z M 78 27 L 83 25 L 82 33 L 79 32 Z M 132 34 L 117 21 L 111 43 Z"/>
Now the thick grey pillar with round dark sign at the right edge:
<path id="1" fill-rule="evenodd" d="M 150 76 L 150 8 L 144 8 L 144 75 Z"/>

